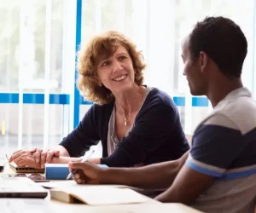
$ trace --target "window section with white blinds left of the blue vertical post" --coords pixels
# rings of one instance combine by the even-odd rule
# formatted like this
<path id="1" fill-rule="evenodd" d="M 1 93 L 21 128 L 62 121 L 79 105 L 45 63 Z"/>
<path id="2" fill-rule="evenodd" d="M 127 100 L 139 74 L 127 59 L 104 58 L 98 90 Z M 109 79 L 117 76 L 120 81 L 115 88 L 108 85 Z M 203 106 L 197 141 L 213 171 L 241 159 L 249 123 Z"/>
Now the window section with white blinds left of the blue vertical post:
<path id="1" fill-rule="evenodd" d="M 53 146 L 61 141 L 67 106 L 44 104 L 55 102 L 49 93 L 62 92 L 63 1 L 0 2 L 3 156 L 21 146 Z"/>

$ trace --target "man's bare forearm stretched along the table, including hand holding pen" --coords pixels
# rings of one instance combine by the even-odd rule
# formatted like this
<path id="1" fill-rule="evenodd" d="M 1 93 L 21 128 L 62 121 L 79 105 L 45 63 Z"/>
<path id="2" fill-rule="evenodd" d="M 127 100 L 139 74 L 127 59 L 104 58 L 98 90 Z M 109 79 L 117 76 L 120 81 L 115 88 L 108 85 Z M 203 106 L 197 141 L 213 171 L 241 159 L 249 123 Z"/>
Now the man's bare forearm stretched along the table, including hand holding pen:
<path id="1" fill-rule="evenodd" d="M 140 168 L 108 168 L 101 170 L 95 164 L 90 163 L 72 163 L 69 164 L 69 168 L 70 170 L 80 169 L 83 171 L 85 178 L 79 174 L 73 176 L 78 183 L 123 184 L 132 187 L 164 189 L 170 187 L 188 155 L 189 152 L 174 161 Z"/>

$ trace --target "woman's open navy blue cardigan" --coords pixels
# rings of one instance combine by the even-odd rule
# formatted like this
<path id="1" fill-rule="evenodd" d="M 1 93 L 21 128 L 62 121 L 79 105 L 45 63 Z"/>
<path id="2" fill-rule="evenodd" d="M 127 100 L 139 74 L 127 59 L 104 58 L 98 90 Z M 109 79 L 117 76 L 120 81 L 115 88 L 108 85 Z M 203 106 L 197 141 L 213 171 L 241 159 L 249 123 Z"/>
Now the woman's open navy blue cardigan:
<path id="1" fill-rule="evenodd" d="M 112 167 L 174 160 L 189 150 L 177 107 L 169 95 L 154 88 L 137 113 L 131 132 L 108 156 L 108 122 L 113 107 L 114 101 L 102 106 L 92 105 L 79 126 L 61 141 L 60 145 L 71 157 L 84 155 L 99 141 L 102 141 L 101 164 Z"/>

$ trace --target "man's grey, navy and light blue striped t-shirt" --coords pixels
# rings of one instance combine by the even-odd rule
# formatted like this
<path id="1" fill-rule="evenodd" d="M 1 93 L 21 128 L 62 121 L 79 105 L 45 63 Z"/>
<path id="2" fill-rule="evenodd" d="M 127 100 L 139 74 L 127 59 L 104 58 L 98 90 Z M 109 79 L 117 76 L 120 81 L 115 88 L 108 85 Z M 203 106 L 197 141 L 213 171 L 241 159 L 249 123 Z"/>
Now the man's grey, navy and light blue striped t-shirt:
<path id="1" fill-rule="evenodd" d="M 205 212 L 253 213 L 256 101 L 246 88 L 230 92 L 198 125 L 186 164 L 192 170 L 216 177 L 193 207 Z"/>

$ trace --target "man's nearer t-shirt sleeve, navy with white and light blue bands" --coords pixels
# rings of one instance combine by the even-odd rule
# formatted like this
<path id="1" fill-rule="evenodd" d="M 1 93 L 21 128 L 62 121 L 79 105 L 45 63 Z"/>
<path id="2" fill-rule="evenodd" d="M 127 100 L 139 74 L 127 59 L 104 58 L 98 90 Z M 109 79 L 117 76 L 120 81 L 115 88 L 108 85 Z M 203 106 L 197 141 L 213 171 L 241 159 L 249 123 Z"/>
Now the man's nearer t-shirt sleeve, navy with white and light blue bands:
<path id="1" fill-rule="evenodd" d="M 221 177 L 246 145 L 236 124 L 224 115 L 213 115 L 195 130 L 186 164 L 208 176 Z"/>

